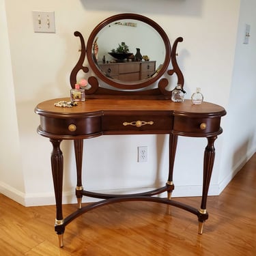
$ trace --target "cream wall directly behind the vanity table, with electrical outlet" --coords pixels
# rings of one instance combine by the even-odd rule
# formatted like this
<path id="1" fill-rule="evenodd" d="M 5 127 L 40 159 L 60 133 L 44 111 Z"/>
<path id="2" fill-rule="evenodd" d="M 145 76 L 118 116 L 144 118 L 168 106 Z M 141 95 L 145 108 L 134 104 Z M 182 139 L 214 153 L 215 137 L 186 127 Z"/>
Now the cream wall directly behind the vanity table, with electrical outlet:
<path id="1" fill-rule="evenodd" d="M 134 0 L 34 0 L 23 3 L 8 0 L 5 5 L 12 58 L 8 70 L 13 70 L 16 97 L 12 100 L 12 109 L 16 107 L 18 120 L 18 126 L 15 126 L 18 145 L 14 147 L 21 150 L 15 160 L 22 159 L 19 171 L 23 173 L 23 179 L 16 178 L 16 168 L 10 167 L 8 171 L 2 168 L 2 162 L 1 176 L 11 173 L 14 181 L 20 183 L 24 180 L 25 195 L 20 195 L 17 201 L 25 205 L 54 203 L 51 143 L 36 133 L 39 117 L 33 109 L 42 100 L 68 96 L 70 71 L 79 57 L 79 40 L 73 35 L 76 30 L 83 32 L 87 40 L 91 30 L 113 14 L 136 12 L 152 18 L 165 29 L 171 43 L 179 36 L 184 38 L 178 47 L 178 61 L 185 76 L 186 97 L 190 98 L 195 88 L 201 87 L 205 100 L 230 108 L 239 0 L 141 0 L 139 4 Z M 55 11 L 56 33 L 33 33 L 32 10 Z M 225 130 L 230 118 L 227 115 L 223 119 Z M 5 138 L 11 135 L 8 133 Z M 225 131 L 216 141 L 210 195 L 218 195 L 219 182 L 233 173 L 232 166 L 223 170 L 226 167 L 223 162 L 230 157 L 228 150 L 223 155 L 223 149 L 227 149 L 233 140 Z M 137 163 L 139 145 L 148 147 L 149 160 L 146 163 Z M 201 194 L 205 145 L 206 139 L 203 138 L 179 138 L 174 196 Z M 91 190 L 123 191 L 125 188 L 130 191 L 164 184 L 168 168 L 167 147 L 165 135 L 105 136 L 87 140 L 83 185 Z M 65 159 L 64 201 L 74 201 L 74 196 L 69 197 L 74 194 L 76 185 L 71 141 L 63 141 L 61 149 Z M 7 157 L 3 162 L 9 159 Z M 5 185 L 23 191 L 20 185 L 2 180 L 2 177 L 1 184 L 0 191 Z"/>

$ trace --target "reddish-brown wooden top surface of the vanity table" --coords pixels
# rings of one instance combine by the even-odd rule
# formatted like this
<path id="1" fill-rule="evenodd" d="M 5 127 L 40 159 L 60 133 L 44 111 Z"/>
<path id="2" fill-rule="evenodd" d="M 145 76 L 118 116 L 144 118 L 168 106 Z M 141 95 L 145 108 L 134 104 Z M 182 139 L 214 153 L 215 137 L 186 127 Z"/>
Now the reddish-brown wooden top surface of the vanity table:
<path id="1" fill-rule="evenodd" d="M 55 98 L 40 102 L 35 107 L 35 113 L 46 115 L 55 113 L 59 115 L 85 114 L 98 111 L 172 111 L 177 114 L 193 113 L 198 115 L 223 116 L 225 109 L 217 104 L 202 102 L 195 105 L 191 100 L 184 102 L 172 102 L 171 100 L 126 100 L 126 99 L 87 99 L 85 102 L 78 102 L 78 106 L 57 107 L 54 104 L 61 100 L 70 101 L 70 98 Z"/>

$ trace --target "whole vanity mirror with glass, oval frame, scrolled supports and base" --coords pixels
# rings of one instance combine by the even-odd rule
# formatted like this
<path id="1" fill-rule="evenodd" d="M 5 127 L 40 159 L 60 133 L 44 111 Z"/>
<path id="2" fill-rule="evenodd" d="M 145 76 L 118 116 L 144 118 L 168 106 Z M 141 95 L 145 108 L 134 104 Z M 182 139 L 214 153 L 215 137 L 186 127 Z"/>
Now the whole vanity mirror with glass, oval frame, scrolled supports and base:
<path id="1" fill-rule="evenodd" d="M 81 55 L 70 74 L 74 88 L 80 70 L 89 68 L 95 76 L 89 76 L 87 98 L 132 97 L 171 98 L 167 90 L 169 81 L 162 78 L 167 72 L 176 74 L 177 84 L 184 86 L 184 76 L 177 59 L 177 38 L 171 44 L 165 31 L 153 20 L 139 14 L 117 14 L 102 21 L 89 35 L 87 47 L 83 35 L 76 31 L 81 41 Z M 83 66 L 87 57 L 89 68 Z M 171 61 L 172 69 L 167 70 Z M 103 87 L 104 82 L 107 87 Z M 152 85 L 157 83 L 156 88 Z"/>

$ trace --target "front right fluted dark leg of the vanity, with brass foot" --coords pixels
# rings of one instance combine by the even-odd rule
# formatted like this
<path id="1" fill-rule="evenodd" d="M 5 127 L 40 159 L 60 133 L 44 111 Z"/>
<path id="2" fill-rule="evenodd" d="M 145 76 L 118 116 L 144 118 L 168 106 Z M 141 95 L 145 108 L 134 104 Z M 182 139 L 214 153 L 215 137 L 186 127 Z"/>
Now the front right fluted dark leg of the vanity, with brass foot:
<path id="1" fill-rule="evenodd" d="M 215 148 L 214 141 L 217 136 L 208 137 L 208 145 L 205 147 L 204 158 L 203 158 L 203 193 L 201 199 L 201 207 L 198 212 L 199 229 L 198 233 L 203 233 L 203 224 L 208 219 L 208 212 L 206 211 L 206 203 L 208 197 L 208 190 L 210 180 L 212 176 L 212 169 L 214 166 Z"/>

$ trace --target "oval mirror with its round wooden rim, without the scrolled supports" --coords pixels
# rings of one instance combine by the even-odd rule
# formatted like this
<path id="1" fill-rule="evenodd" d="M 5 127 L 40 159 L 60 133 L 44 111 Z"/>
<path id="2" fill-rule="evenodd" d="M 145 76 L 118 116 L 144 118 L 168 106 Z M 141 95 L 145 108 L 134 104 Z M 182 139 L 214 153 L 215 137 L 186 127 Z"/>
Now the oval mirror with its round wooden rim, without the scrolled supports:
<path id="1" fill-rule="evenodd" d="M 141 89 L 160 79 L 171 59 L 163 29 L 139 14 L 117 14 L 91 32 L 87 58 L 96 76 L 119 89 Z"/>

